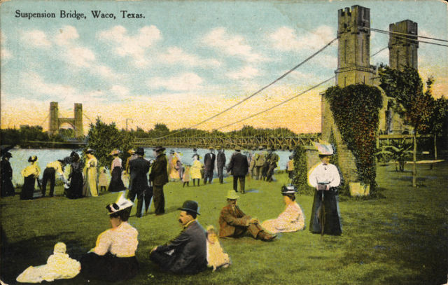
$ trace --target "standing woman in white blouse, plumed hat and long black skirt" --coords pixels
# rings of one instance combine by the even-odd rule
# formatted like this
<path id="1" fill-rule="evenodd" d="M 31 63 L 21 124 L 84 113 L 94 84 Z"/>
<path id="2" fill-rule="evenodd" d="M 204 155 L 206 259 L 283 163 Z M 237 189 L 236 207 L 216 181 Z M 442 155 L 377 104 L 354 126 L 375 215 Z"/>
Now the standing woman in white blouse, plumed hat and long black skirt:
<path id="1" fill-rule="evenodd" d="M 321 235 L 341 235 L 342 225 L 337 195 L 341 176 L 337 167 L 330 163 L 333 154 L 332 146 L 330 144 L 315 144 L 321 162 L 314 165 L 308 172 L 309 186 L 316 189 L 309 230 Z"/>

